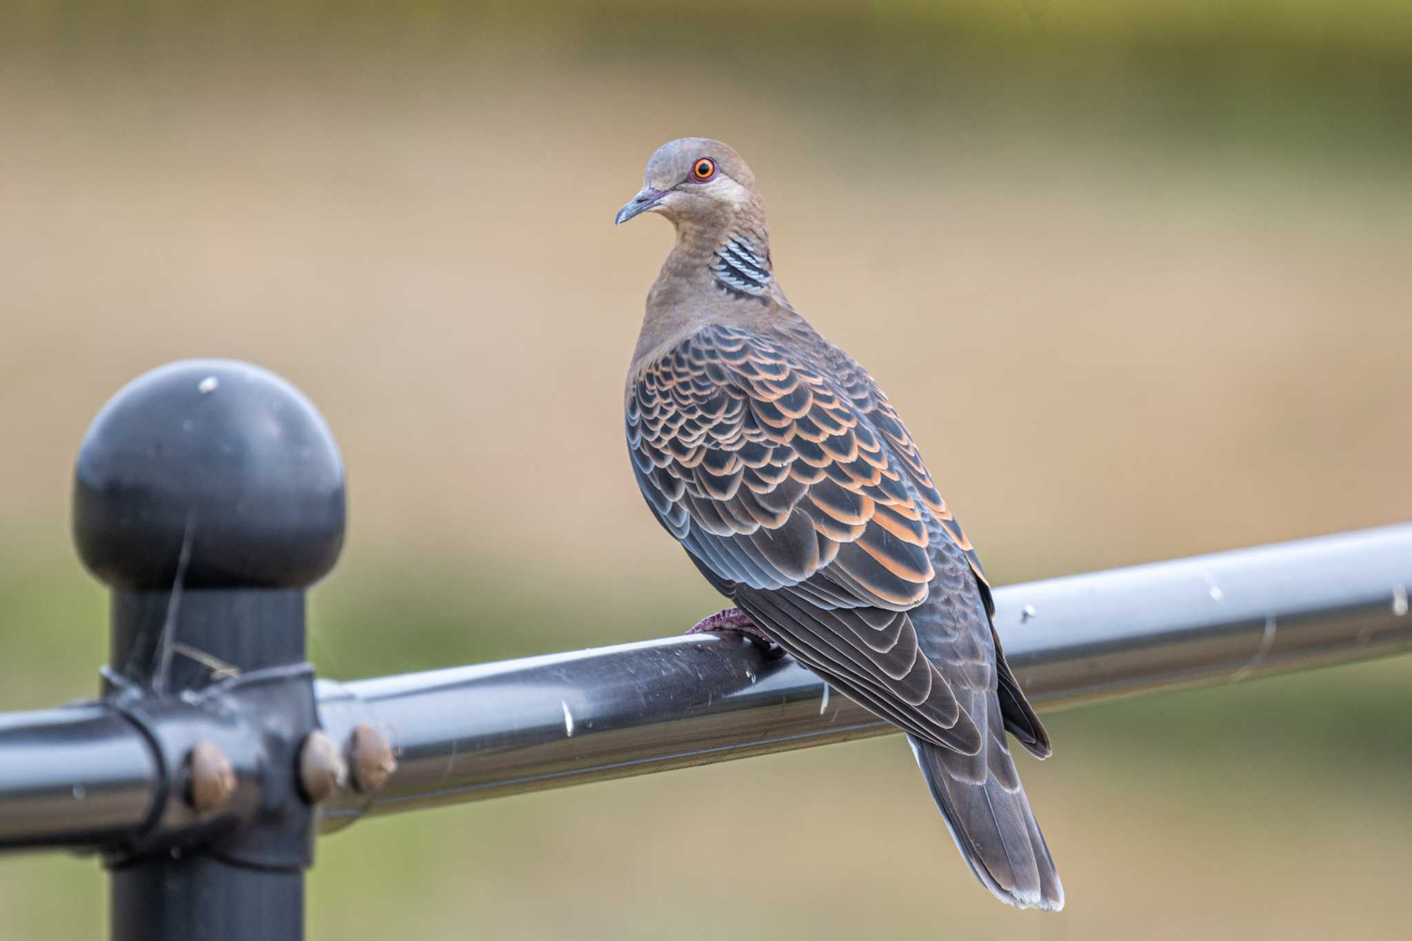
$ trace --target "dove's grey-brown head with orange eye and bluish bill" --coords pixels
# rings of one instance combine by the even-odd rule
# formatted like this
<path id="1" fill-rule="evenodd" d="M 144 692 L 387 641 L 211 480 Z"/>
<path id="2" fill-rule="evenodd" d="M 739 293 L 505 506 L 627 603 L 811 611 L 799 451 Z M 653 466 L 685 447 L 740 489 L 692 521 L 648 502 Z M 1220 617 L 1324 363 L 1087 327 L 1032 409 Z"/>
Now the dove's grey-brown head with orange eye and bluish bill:
<path id="1" fill-rule="evenodd" d="M 678 229 L 714 229 L 740 216 L 760 216 L 755 175 L 730 145 L 705 137 L 662 144 L 647 161 L 642 189 L 614 217 L 623 224 L 658 213 Z"/>

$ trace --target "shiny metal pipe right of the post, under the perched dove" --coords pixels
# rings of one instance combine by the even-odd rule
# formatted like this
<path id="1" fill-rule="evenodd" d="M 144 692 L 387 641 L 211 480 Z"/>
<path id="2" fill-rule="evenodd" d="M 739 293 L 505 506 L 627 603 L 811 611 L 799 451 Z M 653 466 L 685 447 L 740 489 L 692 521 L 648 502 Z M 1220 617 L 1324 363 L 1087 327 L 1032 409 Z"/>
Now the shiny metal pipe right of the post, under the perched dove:
<path id="1" fill-rule="evenodd" d="M 1025 690 L 1053 707 L 1412 649 L 1412 525 L 995 593 Z M 400 769 L 325 831 L 384 814 L 888 734 L 786 657 L 678 636 L 318 684 L 335 741 L 367 722 Z"/>

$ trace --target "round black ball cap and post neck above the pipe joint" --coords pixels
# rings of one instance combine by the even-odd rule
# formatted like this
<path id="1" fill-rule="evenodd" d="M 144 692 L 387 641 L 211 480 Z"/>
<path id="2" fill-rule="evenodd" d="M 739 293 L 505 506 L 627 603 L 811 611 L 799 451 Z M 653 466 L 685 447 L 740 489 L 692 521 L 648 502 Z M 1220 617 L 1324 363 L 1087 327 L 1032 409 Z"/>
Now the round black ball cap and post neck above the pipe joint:
<path id="1" fill-rule="evenodd" d="M 246 363 L 152 370 L 103 406 L 79 450 L 73 536 L 114 590 L 110 667 L 134 683 L 209 677 L 160 639 L 244 670 L 302 660 L 304 590 L 333 569 L 343 529 L 328 425 Z"/>

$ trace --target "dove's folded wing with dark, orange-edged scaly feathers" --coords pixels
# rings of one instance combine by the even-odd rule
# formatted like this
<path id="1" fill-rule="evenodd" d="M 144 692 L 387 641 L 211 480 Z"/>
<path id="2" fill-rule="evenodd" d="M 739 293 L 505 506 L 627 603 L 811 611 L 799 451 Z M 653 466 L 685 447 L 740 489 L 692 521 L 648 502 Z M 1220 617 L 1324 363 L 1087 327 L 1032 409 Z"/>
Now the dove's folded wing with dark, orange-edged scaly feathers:
<path id="1" fill-rule="evenodd" d="M 775 642 L 922 741 L 977 753 L 909 614 L 950 514 L 880 394 L 860 402 L 782 343 L 706 327 L 638 377 L 627 440 L 658 519 Z"/>

